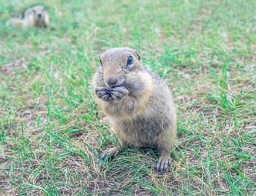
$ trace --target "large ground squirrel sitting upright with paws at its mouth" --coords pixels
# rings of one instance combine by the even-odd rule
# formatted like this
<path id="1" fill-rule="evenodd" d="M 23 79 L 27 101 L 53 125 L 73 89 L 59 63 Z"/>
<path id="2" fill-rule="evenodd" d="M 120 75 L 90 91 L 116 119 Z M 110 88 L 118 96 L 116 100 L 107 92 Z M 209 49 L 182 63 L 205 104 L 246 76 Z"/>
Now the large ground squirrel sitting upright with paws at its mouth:
<path id="1" fill-rule="evenodd" d="M 137 50 L 112 48 L 100 55 L 94 74 L 96 101 L 107 114 L 118 144 L 102 153 L 115 158 L 127 146 L 157 146 L 157 171 L 170 165 L 176 109 L 165 82 L 143 67 Z"/>

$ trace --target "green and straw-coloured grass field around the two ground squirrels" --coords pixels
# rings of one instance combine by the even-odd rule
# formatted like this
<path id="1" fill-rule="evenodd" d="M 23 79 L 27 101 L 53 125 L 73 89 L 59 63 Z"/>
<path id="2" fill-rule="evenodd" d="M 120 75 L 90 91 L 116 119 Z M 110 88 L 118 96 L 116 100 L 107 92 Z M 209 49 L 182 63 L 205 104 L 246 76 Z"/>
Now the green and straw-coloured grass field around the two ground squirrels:
<path id="1" fill-rule="evenodd" d="M 256 195 L 256 1 L 43 1 L 45 30 L 0 0 L 1 195 Z M 177 103 L 170 169 L 114 146 L 94 103 L 99 54 L 132 47 Z"/>

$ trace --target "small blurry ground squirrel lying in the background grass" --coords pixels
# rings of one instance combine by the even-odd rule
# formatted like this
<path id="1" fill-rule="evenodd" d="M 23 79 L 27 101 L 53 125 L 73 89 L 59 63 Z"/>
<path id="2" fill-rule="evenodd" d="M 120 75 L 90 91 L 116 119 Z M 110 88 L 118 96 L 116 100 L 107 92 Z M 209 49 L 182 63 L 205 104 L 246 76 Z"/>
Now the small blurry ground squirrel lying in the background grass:
<path id="1" fill-rule="evenodd" d="M 7 21 L 7 26 L 22 27 L 47 27 L 49 23 L 48 13 L 43 6 L 34 6 L 23 12 L 23 19 L 11 18 Z"/>

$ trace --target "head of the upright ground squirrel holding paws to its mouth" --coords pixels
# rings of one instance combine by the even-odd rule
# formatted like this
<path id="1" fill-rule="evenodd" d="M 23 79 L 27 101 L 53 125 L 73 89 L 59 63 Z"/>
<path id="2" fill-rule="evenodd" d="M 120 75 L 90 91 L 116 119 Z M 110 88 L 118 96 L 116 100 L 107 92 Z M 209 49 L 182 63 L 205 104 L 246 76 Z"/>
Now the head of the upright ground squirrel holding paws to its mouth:
<path id="1" fill-rule="evenodd" d="M 129 81 L 129 75 L 143 70 L 143 63 L 137 50 L 116 47 L 100 55 L 100 66 L 108 87 L 122 85 Z"/>

